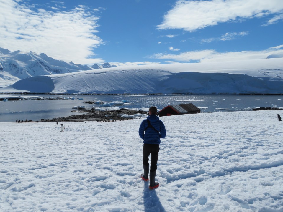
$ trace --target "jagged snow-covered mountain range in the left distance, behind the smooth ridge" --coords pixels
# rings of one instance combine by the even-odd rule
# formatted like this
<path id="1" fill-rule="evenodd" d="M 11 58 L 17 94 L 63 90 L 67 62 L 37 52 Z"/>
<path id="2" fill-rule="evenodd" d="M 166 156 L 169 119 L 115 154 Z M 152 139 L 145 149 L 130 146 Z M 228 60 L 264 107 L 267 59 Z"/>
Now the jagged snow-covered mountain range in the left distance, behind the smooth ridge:
<path id="1" fill-rule="evenodd" d="M 112 67 L 109 63 L 102 64 L 102 67 L 104 66 Z M 97 64 L 88 67 L 73 62 L 67 63 L 48 57 L 44 53 L 10 52 L 8 49 L 0 48 L 0 87 L 12 85 L 28 77 L 72 73 L 96 68 L 101 67 Z"/>

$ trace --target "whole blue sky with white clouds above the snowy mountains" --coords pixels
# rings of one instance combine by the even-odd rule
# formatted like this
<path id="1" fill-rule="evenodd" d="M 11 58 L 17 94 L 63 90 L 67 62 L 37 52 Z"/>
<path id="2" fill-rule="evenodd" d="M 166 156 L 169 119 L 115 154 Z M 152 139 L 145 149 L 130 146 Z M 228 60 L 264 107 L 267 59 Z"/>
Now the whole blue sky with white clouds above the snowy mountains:
<path id="1" fill-rule="evenodd" d="M 0 0 L 0 47 L 76 64 L 283 57 L 282 0 Z"/>

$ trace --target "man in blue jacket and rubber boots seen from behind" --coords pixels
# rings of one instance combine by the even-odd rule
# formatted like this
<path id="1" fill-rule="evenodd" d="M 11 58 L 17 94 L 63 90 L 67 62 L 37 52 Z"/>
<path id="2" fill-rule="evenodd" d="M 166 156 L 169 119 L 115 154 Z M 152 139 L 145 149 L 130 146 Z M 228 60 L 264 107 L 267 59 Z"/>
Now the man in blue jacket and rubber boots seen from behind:
<path id="1" fill-rule="evenodd" d="M 157 160 L 159 153 L 160 138 L 165 138 L 166 129 L 159 117 L 156 115 L 157 108 L 149 108 L 149 116 L 140 124 L 139 135 L 143 139 L 143 171 L 141 178 L 148 181 L 149 163 L 148 156 L 151 154 L 150 172 L 149 172 L 149 188 L 157 188 L 158 182 L 155 182 L 157 169 Z"/>

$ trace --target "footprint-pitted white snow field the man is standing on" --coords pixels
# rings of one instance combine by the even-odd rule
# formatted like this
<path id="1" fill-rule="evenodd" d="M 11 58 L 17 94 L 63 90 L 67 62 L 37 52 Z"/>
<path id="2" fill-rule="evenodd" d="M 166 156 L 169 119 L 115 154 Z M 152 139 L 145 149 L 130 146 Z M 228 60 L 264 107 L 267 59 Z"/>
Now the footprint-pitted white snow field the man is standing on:
<path id="1" fill-rule="evenodd" d="M 140 178 L 143 119 L 0 122 L 0 211 L 283 211 L 277 113 L 160 117 L 155 190 Z"/>

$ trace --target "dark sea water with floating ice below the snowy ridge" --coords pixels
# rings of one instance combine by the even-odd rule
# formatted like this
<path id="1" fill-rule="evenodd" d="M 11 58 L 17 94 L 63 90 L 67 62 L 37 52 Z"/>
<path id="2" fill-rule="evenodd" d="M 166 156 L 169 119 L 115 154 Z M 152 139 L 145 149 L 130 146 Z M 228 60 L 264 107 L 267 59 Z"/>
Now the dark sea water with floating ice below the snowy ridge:
<path id="1" fill-rule="evenodd" d="M 24 96 L 24 95 L 15 95 Z M 30 95 L 29 95 L 30 96 Z M 162 109 L 168 105 L 192 103 L 201 109 L 201 112 L 224 112 L 252 110 L 256 107 L 281 107 L 283 108 L 283 95 L 35 95 L 43 98 L 60 97 L 59 100 L 9 100 L 1 101 L 0 122 L 14 122 L 20 120 L 53 119 L 76 115 L 71 112 L 72 107 L 99 107 L 83 103 L 85 101 L 122 101 L 128 103 L 123 108 L 149 108 L 156 106 Z M 72 99 L 63 99 L 74 97 Z M 79 100 L 83 98 L 83 100 Z M 76 110 L 75 110 L 76 111 Z"/>

